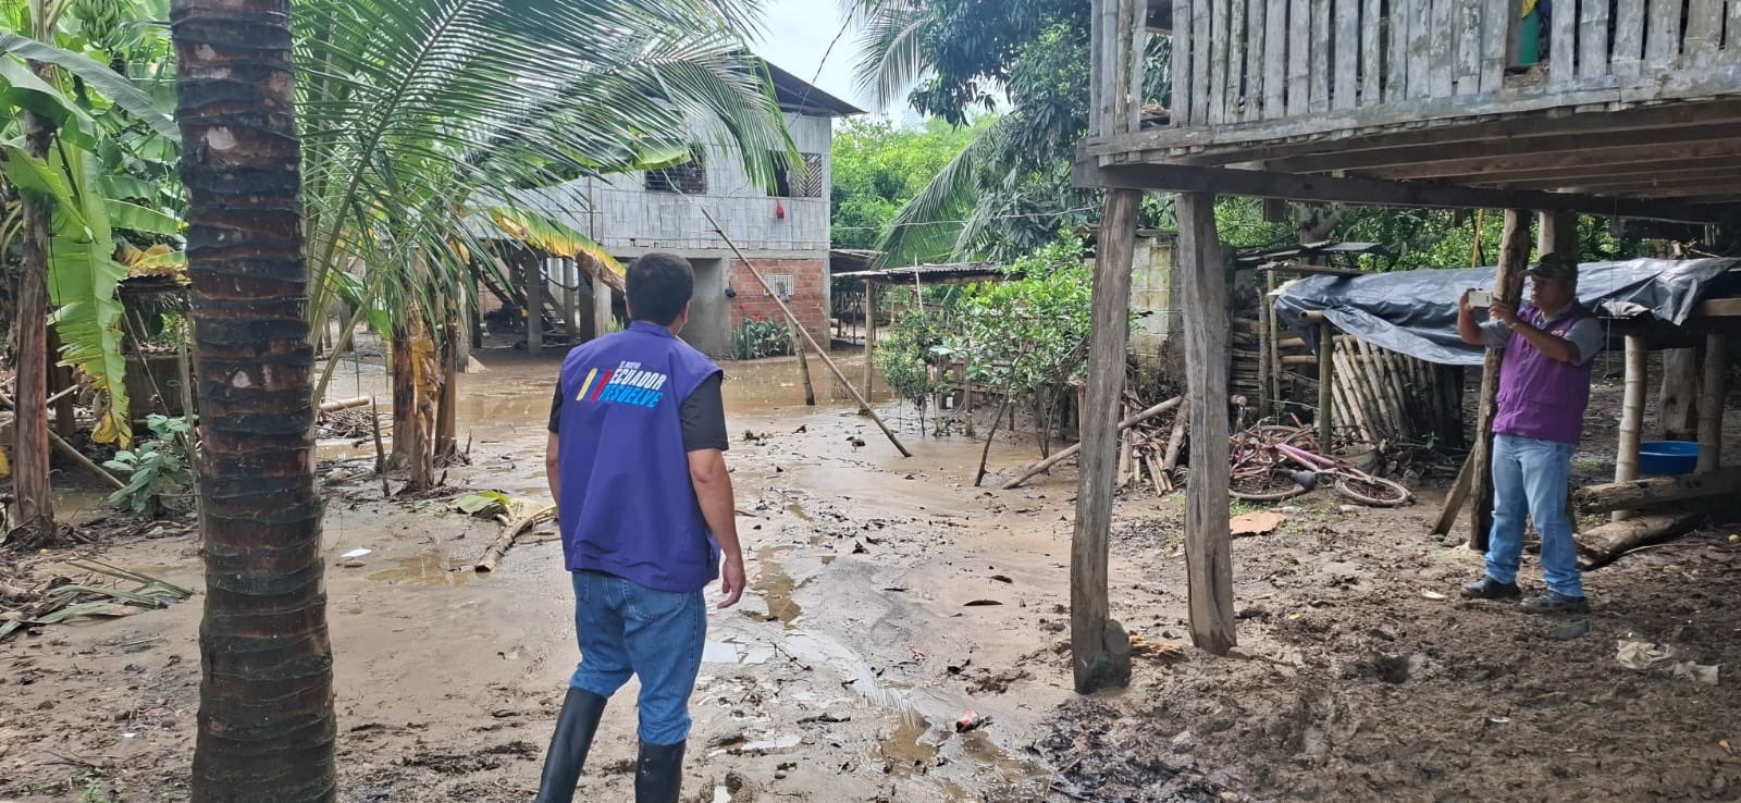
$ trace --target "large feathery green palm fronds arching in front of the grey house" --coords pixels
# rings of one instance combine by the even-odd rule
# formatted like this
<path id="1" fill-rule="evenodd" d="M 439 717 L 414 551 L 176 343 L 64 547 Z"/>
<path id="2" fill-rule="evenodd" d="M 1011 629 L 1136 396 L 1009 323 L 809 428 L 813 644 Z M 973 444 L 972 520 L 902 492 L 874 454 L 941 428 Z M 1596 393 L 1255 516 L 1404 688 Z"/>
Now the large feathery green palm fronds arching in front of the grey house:
<path id="1" fill-rule="evenodd" d="M 756 7 L 299 0 L 312 270 L 360 261 L 390 273 L 383 298 L 446 303 L 430 287 L 487 249 L 481 195 L 637 169 L 696 132 L 771 183 L 796 148 L 743 51 Z M 333 291 L 313 287 L 320 315 Z"/>

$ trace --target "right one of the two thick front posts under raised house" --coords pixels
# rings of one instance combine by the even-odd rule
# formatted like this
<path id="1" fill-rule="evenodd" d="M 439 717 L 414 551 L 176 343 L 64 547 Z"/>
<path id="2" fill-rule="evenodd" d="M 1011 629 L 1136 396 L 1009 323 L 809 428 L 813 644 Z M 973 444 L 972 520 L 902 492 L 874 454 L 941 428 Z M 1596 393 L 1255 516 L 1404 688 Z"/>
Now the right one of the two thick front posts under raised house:
<path id="1" fill-rule="evenodd" d="M 1191 486 L 1186 507 L 1191 641 L 1220 655 L 1238 644 L 1233 625 L 1233 536 L 1227 526 L 1227 263 L 1215 233 L 1215 195 L 1180 193 L 1175 209 L 1184 272 L 1179 284 L 1186 301 L 1186 371 L 1191 376 Z"/>

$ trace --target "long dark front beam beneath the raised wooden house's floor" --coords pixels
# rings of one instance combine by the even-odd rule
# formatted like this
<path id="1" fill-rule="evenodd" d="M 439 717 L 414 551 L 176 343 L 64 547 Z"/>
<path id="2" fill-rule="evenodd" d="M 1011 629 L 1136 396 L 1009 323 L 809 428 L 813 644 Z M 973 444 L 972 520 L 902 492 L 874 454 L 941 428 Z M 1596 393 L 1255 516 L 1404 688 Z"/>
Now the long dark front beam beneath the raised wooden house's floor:
<path id="1" fill-rule="evenodd" d="M 1650 199 L 1605 199 L 1536 190 L 1490 190 L 1478 186 L 1386 181 L 1374 178 L 1297 176 L 1227 167 L 1179 164 L 1099 165 L 1078 160 L 1076 186 L 1151 192 L 1208 192 L 1252 199 L 1287 199 L 1354 206 L 1403 206 L 1428 209 L 1543 209 L 1612 214 L 1685 223 L 1718 223 L 1722 207 Z"/>

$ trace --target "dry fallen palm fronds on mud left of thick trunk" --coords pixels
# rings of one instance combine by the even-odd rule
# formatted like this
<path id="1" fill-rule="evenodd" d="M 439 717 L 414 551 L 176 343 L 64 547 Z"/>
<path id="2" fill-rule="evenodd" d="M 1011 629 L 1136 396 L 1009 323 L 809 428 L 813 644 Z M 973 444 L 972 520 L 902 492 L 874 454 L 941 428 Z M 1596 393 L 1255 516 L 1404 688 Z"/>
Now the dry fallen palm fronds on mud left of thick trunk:
<path id="1" fill-rule="evenodd" d="M 101 561 L 66 561 L 85 575 L 50 577 L 24 585 L 23 573 L 0 578 L 0 641 L 16 632 L 85 618 L 118 618 L 169 608 L 192 590 Z"/>

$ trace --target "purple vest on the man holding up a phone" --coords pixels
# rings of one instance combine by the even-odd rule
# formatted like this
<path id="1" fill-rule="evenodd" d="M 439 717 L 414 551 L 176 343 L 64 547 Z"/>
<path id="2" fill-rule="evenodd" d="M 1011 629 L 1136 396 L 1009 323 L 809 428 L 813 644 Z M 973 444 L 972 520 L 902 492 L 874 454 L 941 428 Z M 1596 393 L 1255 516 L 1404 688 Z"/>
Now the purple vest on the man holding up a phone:
<path id="1" fill-rule="evenodd" d="M 1570 310 L 1549 322 L 1543 322 L 1541 310 L 1529 305 L 1518 310 L 1518 317 L 1563 338 L 1572 324 L 1591 315 L 1572 301 Z M 1584 361 L 1583 366 L 1560 362 L 1529 345 L 1523 334 L 1511 333 L 1504 366 L 1499 369 L 1499 415 L 1494 416 L 1494 434 L 1576 446 L 1584 434 L 1593 364 L 1595 361 Z"/>

